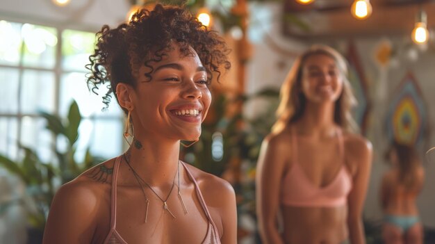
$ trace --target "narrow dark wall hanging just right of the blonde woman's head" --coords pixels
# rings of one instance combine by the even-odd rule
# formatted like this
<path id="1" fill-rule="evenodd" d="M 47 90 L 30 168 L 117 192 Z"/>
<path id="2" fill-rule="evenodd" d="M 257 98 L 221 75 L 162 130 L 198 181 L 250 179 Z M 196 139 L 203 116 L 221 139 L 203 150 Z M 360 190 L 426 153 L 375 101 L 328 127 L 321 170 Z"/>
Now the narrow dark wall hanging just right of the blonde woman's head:
<path id="1" fill-rule="evenodd" d="M 349 81 L 352 90 L 358 101 L 358 105 L 354 108 L 354 118 L 359 125 L 361 133 L 366 135 L 368 127 L 368 114 L 370 112 L 370 99 L 368 98 L 368 83 L 363 71 L 363 67 L 359 60 L 358 51 L 354 42 L 350 42 L 347 50 L 347 61 L 349 62 Z"/>

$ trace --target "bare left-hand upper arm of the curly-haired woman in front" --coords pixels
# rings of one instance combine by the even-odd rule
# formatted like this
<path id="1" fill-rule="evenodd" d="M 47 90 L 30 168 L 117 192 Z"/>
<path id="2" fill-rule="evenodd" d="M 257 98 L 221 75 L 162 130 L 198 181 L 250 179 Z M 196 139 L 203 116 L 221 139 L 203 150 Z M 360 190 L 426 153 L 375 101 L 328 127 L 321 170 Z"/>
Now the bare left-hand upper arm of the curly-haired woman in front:
<path id="1" fill-rule="evenodd" d="M 51 204 L 43 243 L 91 243 L 96 202 L 95 194 L 83 185 L 68 183 L 62 186 Z"/>

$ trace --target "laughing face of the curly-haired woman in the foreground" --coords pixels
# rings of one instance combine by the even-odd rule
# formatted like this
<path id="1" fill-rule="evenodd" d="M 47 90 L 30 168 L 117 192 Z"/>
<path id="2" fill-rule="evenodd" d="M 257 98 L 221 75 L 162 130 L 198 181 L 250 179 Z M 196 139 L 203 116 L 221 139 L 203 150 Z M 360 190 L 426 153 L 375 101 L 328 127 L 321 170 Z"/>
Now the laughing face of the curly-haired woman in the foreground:
<path id="1" fill-rule="evenodd" d="M 192 55 L 182 56 L 175 43 L 163 60 L 150 65 L 151 81 L 145 76 L 149 67 L 140 67 L 136 76 L 135 136 L 196 140 L 211 104 L 206 69 L 197 53 L 192 49 Z"/>

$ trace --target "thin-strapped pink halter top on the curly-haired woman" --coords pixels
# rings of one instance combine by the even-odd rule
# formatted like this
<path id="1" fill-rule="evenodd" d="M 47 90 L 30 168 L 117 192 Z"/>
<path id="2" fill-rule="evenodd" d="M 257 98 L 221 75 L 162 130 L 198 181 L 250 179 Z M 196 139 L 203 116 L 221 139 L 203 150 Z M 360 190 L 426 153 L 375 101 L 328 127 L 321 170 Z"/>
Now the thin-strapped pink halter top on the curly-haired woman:
<path id="1" fill-rule="evenodd" d="M 114 170 L 113 170 L 113 181 L 112 181 L 112 201 L 111 201 L 111 216 L 110 216 L 110 231 L 106 236 L 106 240 L 104 240 L 105 244 L 127 244 L 126 241 L 122 238 L 122 236 L 116 230 L 116 182 L 117 182 L 117 173 L 120 168 L 121 156 L 117 157 L 115 160 Z M 181 162 L 184 169 L 188 173 L 189 178 L 192 180 L 193 184 L 195 184 L 195 189 L 197 190 L 197 195 L 199 198 L 199 202 L 201 203 L 202 209 L 206 213 L 208 219 L 208 228 L 207 234 L 202 241 L 202 244 L 220 244 L 220 235 L 217 231 L 217 227 L 215 222 L 213 222 L 210 213 L 208 212 L 206 202 L 204 201 L 204 197 L 202 197 L 201 190 L 199 190 L 199 186 L 195 177 L 193 177 L 192 173 L 188 170 L 187 166 Z"/>

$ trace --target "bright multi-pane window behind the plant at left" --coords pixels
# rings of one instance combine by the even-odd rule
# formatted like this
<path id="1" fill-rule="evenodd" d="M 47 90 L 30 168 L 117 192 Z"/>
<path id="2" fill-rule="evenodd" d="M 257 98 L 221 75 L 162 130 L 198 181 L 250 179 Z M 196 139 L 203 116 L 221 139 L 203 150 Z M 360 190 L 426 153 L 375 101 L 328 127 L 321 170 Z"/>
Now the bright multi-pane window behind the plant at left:
<path id="1" fill-rule="evenodd" d="M 52 161 L 51 147 L 62 142 L 44 129 L 38 112 L 66 117 L 73 99 L 83 117 L 76 160 L 83 161 L 87 147 L 102 158 L 121 153 L 121 109 L 113 99 L 102 112 L 101 97 L 85 82 L 95 33 L 0 20 L 0 36 L 0 154 L 15 159 L 22 144 Z"/>

